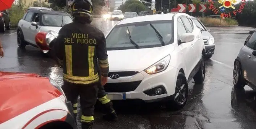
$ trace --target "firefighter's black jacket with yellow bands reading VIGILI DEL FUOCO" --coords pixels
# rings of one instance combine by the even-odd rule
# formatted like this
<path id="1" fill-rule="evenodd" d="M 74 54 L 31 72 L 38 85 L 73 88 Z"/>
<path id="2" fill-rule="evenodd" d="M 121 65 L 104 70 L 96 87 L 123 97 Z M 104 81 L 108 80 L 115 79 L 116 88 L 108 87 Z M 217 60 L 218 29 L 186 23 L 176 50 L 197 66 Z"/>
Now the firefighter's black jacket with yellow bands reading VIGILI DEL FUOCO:
<path id="1" fill-rule="evenodd" d="M 64 25 L 53 45 L 63 62 L 63 79 L 77 84 L 91 84 L 109 73 L 105 36 L 89 23 L 72 22 Z M 97 65 L 99 60 L 99 66 Z"/>

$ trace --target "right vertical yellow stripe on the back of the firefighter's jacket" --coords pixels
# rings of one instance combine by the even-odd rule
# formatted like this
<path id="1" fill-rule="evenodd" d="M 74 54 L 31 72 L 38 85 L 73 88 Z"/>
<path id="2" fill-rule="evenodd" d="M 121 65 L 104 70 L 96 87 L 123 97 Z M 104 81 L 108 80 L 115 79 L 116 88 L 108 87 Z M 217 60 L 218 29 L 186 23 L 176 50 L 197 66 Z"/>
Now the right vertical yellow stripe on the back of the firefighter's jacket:
<path id="1" fill-rule="evenodd" d="M 93 64 L 94 48 L 95 46 L 88 46 L 89 77 L 94 76 L 94 64 Z"/>

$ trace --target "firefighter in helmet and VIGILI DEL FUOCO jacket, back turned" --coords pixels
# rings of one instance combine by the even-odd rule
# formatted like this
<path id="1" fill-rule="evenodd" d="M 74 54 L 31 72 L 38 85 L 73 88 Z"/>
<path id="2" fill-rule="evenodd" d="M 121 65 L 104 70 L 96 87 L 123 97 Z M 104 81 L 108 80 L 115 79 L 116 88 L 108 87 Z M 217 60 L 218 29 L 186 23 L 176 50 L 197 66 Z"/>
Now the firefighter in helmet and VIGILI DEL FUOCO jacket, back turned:
<path id="1" fill-rule="evenodd" d="M 98 87 L 107 83 L 109 73 L 105 36 L 102 31 L 90 24 L 92 10 L 91 0 L 75 0 L 71 5 L 74 22 L 60 29 L 56 43 L 52 47 L 52 51 L 62 62 L 62 89 L 68 101 L 73 104 L 75 116 L 77 98 L 80 96 L 82 129 L 92 129 Z M 109 101 L 106 96 L 99 99 L 102 104 Z"/>

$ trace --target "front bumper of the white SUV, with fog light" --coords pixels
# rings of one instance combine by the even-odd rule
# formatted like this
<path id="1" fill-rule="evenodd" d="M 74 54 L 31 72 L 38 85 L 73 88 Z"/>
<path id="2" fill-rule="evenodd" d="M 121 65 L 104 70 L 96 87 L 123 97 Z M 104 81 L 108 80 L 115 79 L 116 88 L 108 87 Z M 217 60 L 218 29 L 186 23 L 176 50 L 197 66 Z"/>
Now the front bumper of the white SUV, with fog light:
<path id="1" fill-rule="evenodd" d="M 109 78 L 104 88 L 108 94 L 107 97 L 112 100 L 160 101 L 175 93 L 177 75 L 178 69 L 168 66 L 165 71 L 157 74 L 149 75 L 141 71 L 133 76 L 121 76 L 118 79 Z M 161 88 L 162 94 L 153 95 L 156 88 Z"/>

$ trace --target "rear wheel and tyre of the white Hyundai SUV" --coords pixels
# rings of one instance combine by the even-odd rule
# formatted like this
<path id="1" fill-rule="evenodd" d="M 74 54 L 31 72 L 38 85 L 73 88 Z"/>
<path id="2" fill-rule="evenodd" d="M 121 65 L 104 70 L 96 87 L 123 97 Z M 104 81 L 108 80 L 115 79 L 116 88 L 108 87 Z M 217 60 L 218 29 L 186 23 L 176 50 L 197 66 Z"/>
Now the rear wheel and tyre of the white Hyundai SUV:
<path id="1" fill-rule="evenodd" d="M 196 73 L 196 75 L 193 77 L 195 84 L 201 84 L 204 82 L 205 79 L 205 62 L 204 62 L 204 55 L 202 55 L 201 59 L 201 65 Z"/>

